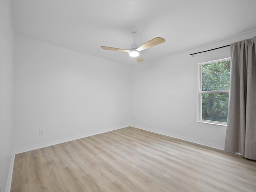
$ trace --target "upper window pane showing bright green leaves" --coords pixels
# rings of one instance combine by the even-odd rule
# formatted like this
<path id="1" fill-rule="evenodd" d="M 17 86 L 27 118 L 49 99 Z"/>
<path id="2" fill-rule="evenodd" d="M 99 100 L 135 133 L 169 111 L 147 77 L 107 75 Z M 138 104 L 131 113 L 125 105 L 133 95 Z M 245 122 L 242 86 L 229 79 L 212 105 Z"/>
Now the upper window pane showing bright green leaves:
<path id="1" fill-rule="evenodd" d="M 229 90 L 230 60 L 202 65 L 202 91 Z"/>

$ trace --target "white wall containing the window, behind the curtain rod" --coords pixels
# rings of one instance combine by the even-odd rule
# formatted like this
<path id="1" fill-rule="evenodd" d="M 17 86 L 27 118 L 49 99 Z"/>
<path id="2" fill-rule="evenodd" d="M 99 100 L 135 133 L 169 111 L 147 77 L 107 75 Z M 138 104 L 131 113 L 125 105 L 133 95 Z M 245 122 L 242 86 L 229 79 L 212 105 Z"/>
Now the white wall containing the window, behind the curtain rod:
<path id="1" fill-rule="evenodd" d="M 132 126 L 224 149 L 226 126 L 197 122 L 198 63 L 228 58 L 230 47 L 189 54 L 255 35 L 249 32 L 133 66 Z"/>

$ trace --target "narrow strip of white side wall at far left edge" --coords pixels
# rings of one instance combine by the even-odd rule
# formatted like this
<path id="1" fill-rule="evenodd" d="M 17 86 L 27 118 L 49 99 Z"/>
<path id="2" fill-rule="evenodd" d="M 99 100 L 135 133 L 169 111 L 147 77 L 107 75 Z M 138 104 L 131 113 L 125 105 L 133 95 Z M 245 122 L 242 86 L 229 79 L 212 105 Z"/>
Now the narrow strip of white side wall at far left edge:
<path id="1" fill-rule="evenodd" d="M 5 191 L 12 158 L 13 29 L 10 2 L 0 1 L 0 185 Z"/>

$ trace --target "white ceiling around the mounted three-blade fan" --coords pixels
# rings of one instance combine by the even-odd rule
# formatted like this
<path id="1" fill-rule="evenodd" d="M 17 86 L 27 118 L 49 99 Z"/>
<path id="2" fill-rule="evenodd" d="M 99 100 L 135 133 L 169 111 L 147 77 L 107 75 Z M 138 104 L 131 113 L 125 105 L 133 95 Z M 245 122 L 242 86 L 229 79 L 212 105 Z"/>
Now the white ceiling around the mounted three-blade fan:
<path id="1" fill-rule="evenodd" d="M 132 26 L 145 61 L 256 29 L 256 0 L 12 0 L 14 30 L 44 42 L 124 64 Z M 145 62 L 144 61 L 144 62 Z"/>

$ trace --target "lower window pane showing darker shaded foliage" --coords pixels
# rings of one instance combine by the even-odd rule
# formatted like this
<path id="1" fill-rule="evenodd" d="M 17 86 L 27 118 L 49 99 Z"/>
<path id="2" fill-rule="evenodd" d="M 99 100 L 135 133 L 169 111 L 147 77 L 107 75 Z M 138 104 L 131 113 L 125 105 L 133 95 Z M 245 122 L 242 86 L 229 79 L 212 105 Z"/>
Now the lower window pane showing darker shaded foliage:
<path id="1" fill-rule="evenodd" d="M 202 94 L 202 119 L 227 122 L 228 93 Z"/>

